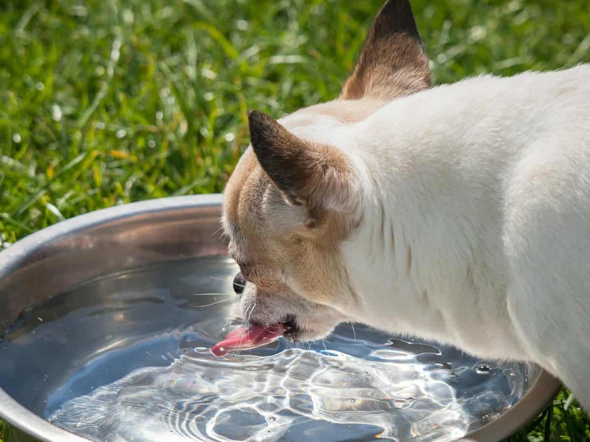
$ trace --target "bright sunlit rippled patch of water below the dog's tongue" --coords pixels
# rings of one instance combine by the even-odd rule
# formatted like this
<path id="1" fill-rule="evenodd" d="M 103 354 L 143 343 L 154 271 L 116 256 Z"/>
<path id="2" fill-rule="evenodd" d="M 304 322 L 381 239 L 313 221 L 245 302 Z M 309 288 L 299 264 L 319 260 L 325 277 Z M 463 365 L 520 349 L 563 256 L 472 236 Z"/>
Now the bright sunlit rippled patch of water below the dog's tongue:
<path id="1" fill-rule="evenodd" d="M 474 360 L 453 378 L 449 368 L 442 368 L 450 363 L 418 362 L 423 352 L 364 345 L 370 359 L 335 349 L 328 355 L 300 348 L 267 357 L 217 359 L 206 348 L 195 348 L 168 367 L 133 371 L 68 401 L 50 421 L 92 440 L 109 441 L 278 441 L 300 436 L 326 441 L 334 439 L 332 425 L 341 424 L 347 436 L 359 431 L 392 440 L 442 442 L 500 415 L 523 392 L 522 382 L 513 382 L 508 390 L 490 388 L 508 381 L 506 367 L 486 362 L 489 370 L 482 375 L 483 364 Z M 432 354 L 440 355 L 436 350 Z M 520 372 L 522 367 L 514 364 L 509 370 Z M 483 385 L 466 386 L 472 395 L 465 388 L 457 394 L 453 384 L 463 382 L 456 380 L 474 376 Z"/>

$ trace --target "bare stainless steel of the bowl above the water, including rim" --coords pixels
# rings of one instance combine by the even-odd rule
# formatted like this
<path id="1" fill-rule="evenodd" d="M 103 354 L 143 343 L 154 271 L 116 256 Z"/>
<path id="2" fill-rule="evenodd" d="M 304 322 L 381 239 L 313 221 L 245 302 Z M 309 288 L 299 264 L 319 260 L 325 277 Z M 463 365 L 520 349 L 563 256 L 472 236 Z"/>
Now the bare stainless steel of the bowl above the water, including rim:
<path id="1" fill-rule="evenodd" d="M 98 210 L 34 233 L 0 253 L 0 332 L 22 311 L 98 276 L 152 263 L 225 255 L 219 194 L 171 197 Z M 540 413 L 559 389 L 541 371 L 507 413 L 464 441 L 500 441 Z M 86 439 L 51 425 L 0 389 L 0 417 L 42 441 Z"/>

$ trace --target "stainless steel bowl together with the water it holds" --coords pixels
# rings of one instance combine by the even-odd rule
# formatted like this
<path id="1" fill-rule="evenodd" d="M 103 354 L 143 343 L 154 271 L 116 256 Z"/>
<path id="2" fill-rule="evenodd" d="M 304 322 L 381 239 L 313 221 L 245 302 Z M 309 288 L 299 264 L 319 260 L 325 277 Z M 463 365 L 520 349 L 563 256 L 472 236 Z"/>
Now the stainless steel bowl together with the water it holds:
<path id="1" fill-rule="evenodd" d="M 28 411 L 0 414 L 45 440 L 40 418 L 90 440 L 444 441 L 530 395 L 535 365 L 360 324 L 212 357 L 241 320 L 218 220 L 219 197 L 129 204 L 3 252 L 0 387 Z"/>

